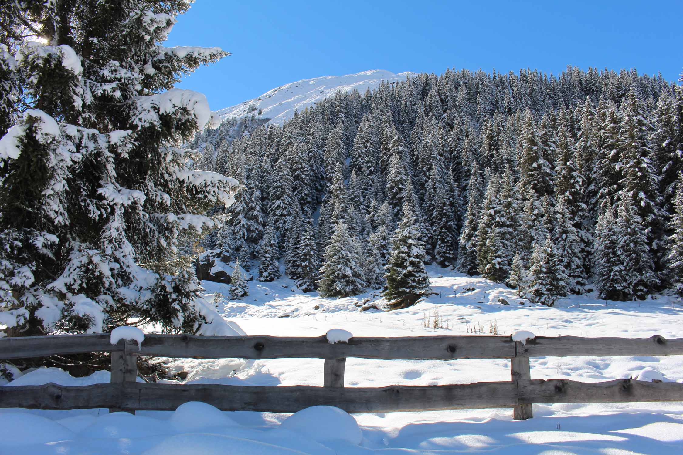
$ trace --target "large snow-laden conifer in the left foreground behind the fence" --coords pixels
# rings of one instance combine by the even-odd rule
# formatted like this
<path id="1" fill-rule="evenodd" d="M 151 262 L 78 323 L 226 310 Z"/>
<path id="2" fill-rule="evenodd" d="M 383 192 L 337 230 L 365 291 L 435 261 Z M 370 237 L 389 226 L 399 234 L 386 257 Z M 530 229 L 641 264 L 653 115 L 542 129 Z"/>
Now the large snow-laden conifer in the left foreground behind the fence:
<path id="1" fill-rule="evenodd" d="M 34 25 L 14 42 L 25 111 L 0 141 L 3 320 L 28 324 L 25 335 L 131 317 L 196 332 L 207 306 L 178 242 L 213 225 L 201 214 L 236 182 L 188 168 L 180 145 L 217 116 L 171 87 L 226 53 L 161 45 L 187 1 L 13 7 L 3 27 Z"/>

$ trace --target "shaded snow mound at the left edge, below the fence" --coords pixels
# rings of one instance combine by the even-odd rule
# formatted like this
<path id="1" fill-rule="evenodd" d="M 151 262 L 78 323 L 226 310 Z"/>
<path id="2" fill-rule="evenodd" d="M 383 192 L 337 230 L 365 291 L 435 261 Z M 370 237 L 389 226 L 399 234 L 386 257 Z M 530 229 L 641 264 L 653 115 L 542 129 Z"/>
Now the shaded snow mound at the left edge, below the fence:
<path id="1" fill-rule="evenodd" d="M 40 417 L 40 415 L 29 413 L 0 413 L 0 428 L 2 428 L 4 435 L 1 447 L 66 441 L 67 439 L 74 439 L 75 436 L 74 432 L 66 426 Z M 3 450 L 0 452 L 5 453 Z"/>

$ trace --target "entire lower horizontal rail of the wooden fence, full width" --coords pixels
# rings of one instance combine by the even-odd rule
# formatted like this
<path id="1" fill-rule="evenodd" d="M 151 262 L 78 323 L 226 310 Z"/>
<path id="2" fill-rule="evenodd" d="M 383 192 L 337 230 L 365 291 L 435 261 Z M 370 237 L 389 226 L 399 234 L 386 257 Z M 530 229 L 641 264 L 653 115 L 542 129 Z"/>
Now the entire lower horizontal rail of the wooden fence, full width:
<path id="1" fill-rule="evenodd" d="M 438 411 L 504 408 L 531 403 L 683 401 L 683 383 L 652 383 L 634 379 L 581 383 L 533 379 L 389 387 L 245 387 L 131 382 L 78 387 L 54 383 L 0 387 L 3 407 L 28 409 L 173 411 L 188 401 L 203 401 L 223 411 L 291 413 L 316 405 L 335 406 L 348 413 Z"/>

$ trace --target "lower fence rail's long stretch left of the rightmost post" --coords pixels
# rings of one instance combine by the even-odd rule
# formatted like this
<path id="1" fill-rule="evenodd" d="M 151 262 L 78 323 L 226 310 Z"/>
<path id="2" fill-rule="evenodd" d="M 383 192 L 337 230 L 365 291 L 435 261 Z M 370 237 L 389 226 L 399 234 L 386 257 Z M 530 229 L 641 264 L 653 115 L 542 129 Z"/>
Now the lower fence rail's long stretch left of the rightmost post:
<path id="1" fill-rule="evenodd" d="M 173 411 L 184 402 L 203 401 L 223 411 L 293 413 L 329 405 L 349 413 L 483 409 L 516 405 L 512 382 L 389 387 L 244 387 L 124 383 L 84 387 L 26 385 L 0 387 L 1 407 L 29 409 L 122 409 Z"/>

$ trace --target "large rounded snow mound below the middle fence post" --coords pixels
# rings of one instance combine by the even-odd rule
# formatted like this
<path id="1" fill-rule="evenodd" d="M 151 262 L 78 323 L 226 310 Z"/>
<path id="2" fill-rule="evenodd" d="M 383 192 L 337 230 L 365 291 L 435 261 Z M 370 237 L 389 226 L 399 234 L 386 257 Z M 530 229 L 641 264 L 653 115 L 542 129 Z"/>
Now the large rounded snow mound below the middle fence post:
<path id="1" fill-rule="evenodd" d="M 359 445 L 363 432 L 356 420 L 337 407 L 313 406 L 287 417 L 280 425 L 283 430 L 297 432 L 313 441 L 346 441 Z"/>

